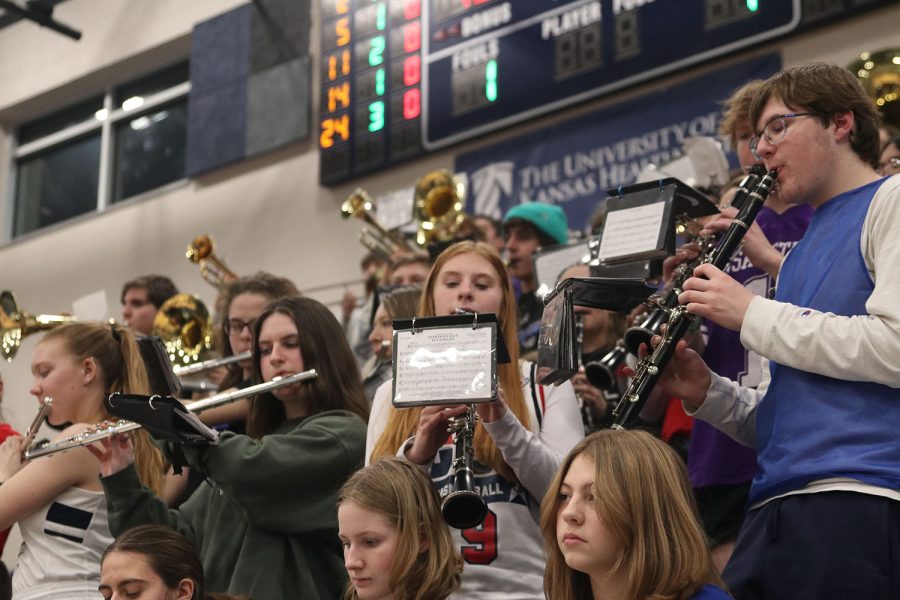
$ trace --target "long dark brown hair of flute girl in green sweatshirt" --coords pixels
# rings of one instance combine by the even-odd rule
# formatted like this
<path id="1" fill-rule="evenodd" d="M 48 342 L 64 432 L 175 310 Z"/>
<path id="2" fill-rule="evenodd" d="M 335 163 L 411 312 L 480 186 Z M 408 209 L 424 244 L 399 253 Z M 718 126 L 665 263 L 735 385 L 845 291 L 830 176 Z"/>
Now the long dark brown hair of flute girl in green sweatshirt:
<path id="1" fill-rule="evenodd" d="M 297 326 L 300 355 L 305 369 L 315 369 L 317 376 L 301 386 L 309 414 L 326 410 L 346 410 L 363 421 L 369 417 L 369 403 L 356 366 L 356 359 L 335 316 L 321 302 L 312 298 L 286 296 L 266 307 L 253 326 L 253 377 L 262 383 L 259 355 L 259 332 L 262 324 L 275 313 L 289 317 Z M 259 439 L 275 431 L 285 420 L 284 406 L 271 393 L 260 394 L 250 401 L 247 412 L 247 434 Z"/>

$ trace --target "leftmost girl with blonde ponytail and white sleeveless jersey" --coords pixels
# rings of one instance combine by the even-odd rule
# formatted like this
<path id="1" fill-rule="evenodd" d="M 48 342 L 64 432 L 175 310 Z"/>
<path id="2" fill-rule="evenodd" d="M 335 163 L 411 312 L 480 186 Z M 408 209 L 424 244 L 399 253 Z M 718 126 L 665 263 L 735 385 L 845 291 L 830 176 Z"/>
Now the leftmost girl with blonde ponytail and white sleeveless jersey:
<path id="1" fill-rule="evenodd" d="M 110 418 L 112 392 L 147 394 L 134 337 L 118 325 L 71 323 L 47 332 L 31 361 L 32 395 L 53 400 L 47 421 L 69 425 L 57 440 Z M 22 462 L 20 437 L 0 446 L 0 529 L 19 523 L 22 549 L 13 576 L 16 600 L 97 597 L 100 556 L 113 541 L 100 465 L 85 448 Z M 141 482 L 162 489 L 164 462 L 146 432 L 136 432 Z"/>

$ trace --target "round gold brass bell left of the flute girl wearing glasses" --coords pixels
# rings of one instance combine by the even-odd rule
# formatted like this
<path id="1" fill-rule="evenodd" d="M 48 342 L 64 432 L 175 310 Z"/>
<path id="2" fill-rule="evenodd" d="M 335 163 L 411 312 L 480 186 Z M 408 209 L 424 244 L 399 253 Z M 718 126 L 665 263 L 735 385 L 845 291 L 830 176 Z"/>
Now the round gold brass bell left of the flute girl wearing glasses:
<path id="1" fill-rule="evenodd" d="M 175 367 L 201 361 L 212 348 L 212 323 L 196 296 L 175 294 L 159 307 L 153 335 L 162 339 Z"/>

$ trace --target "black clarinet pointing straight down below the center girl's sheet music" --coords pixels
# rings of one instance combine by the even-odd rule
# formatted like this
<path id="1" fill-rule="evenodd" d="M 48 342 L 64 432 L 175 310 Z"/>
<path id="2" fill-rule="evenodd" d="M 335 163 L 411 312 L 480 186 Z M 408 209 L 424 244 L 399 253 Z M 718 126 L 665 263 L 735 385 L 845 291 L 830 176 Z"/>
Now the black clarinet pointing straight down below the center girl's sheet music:
<path id="1" fill-rule="evenodd" d="M 469 529 L 480 525 L 487 516 L 487 503 L 475 491 L 475 473 L 472 471 L 475 448 L 475 406 L 470 404 L 465 414 L 450 421 L 456 458 L 453 459 L 453 491 L 441 501 L 441 514 L 447 525 L 456 529 Z"/>

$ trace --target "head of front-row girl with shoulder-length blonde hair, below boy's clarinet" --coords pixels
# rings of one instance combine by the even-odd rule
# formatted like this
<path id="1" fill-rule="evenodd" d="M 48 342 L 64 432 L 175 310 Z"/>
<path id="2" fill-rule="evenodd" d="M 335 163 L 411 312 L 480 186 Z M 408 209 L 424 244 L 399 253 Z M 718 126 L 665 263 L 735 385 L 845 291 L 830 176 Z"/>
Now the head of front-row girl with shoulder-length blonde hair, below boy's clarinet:
<path id="1" fill-rule="evenodd" d="M 576 445 L 544 498 L 541 529 L 547 598 L 730 598 L 684 464 L 645 431 L 606 429 Z"/>

